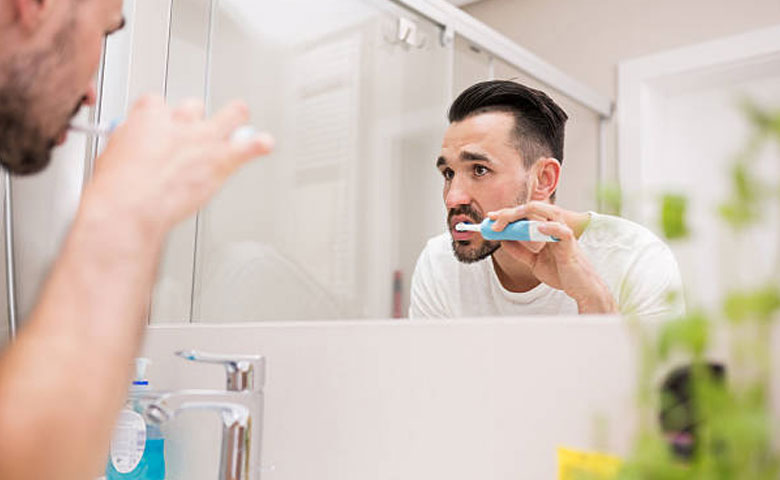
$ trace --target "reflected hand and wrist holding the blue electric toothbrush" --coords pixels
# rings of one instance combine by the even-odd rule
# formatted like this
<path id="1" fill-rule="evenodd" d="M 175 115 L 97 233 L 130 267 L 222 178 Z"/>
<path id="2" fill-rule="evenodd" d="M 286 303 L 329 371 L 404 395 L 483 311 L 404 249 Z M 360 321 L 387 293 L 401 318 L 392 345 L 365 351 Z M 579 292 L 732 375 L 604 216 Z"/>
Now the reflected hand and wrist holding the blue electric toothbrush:
<path id="1" fill-rule="evenodd" d="M 577 244 L 575 230 L 581 233 L 587 220 L 579 214 L 543 202 L 529 202 L 514 208 L 488 213 L 496 223 L 493 230 L 502 231 L 507 224 L 520 219 L 543 222 L 539 232 L 560 239 L 559 242 L 502 242 L 502 248 L 531 269 L 541 282 L 563 290 L 577 302 L 580 313 L 616 313 L 615 299 L 593 269 Z"/>

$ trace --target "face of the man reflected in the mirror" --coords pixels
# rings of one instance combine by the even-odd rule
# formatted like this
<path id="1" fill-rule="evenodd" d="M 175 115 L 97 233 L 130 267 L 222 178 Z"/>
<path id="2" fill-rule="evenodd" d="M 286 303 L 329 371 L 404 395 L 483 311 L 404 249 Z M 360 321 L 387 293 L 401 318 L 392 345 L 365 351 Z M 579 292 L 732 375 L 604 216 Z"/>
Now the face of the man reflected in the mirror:
<path id="1" fill-rule="evenodd" d="M 509 113 L 489 112 L 452 123 L 444 135 L 436 162 L 444 177 L 444 205 L 455 257 L 461 262 L 482 260 L 499 242 L 477 232 L 458 232 L 460 222 L 479 223 L 487 212 L 528 201 L 528 173 L 523 166 Z"/>

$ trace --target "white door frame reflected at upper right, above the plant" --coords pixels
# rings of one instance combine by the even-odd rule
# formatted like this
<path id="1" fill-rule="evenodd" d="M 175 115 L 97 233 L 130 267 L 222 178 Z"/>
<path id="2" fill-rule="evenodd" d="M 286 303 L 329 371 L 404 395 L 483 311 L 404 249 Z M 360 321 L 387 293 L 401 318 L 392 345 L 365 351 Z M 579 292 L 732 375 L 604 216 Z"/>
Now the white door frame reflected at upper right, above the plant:
<path id="1" fill-rule="evenodd" d="M 702 88 L 740 72 L 780 62 L 780 25 L 723 37 L 618 65 L 618 169 L 627 193 L 624 215 L 640 223 L 649 218 L 642 201 L 643 172 L 652 164 L 655 115 L 663 99 L 681 89 Z"/>

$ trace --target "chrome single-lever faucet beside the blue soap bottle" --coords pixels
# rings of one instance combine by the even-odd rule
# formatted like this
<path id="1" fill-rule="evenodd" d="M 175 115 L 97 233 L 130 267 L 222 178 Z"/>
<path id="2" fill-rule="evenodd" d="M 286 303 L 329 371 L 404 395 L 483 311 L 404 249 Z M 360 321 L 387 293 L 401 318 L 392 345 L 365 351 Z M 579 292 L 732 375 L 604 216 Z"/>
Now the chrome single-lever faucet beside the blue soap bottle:
<path id="1" fill-rule="evenodd" d="M 260 478 L 260 444 L 265 359 L 259 355 L 224 355 L 187 350 L 185 360 L 225 367 L 225 390 L 179 390 L 149 396 L 144 416 L 162 424 L 189 410 L 210 410 L 222 420 L 219 480 Z M 255 417 L 254 414 L 257 414 Z M 257 422 L 253 422 L 253 418 Z M 253 424 L 255 423 L 255 424 Z"/>

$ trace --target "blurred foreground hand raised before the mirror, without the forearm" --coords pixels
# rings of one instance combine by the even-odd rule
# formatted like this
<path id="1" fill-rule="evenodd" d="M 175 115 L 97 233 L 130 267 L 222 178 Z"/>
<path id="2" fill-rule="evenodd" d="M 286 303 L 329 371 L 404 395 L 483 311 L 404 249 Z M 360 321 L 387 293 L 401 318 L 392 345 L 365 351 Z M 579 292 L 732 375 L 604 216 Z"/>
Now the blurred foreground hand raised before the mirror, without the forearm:
<path id="1" fill-rule="evenodd" d="M 204 119 L 203 103 L 176 109 L 162 98 L 139 100 L 98 160 L 85 204 L 98 197 L 103 213 L 135 221 L 146 234 L 164 235 L 193 214 L 246 161 L 270 152 L 267 134 L 231 142 L 248 121 L 247 107 L 234 102 Z"/>

